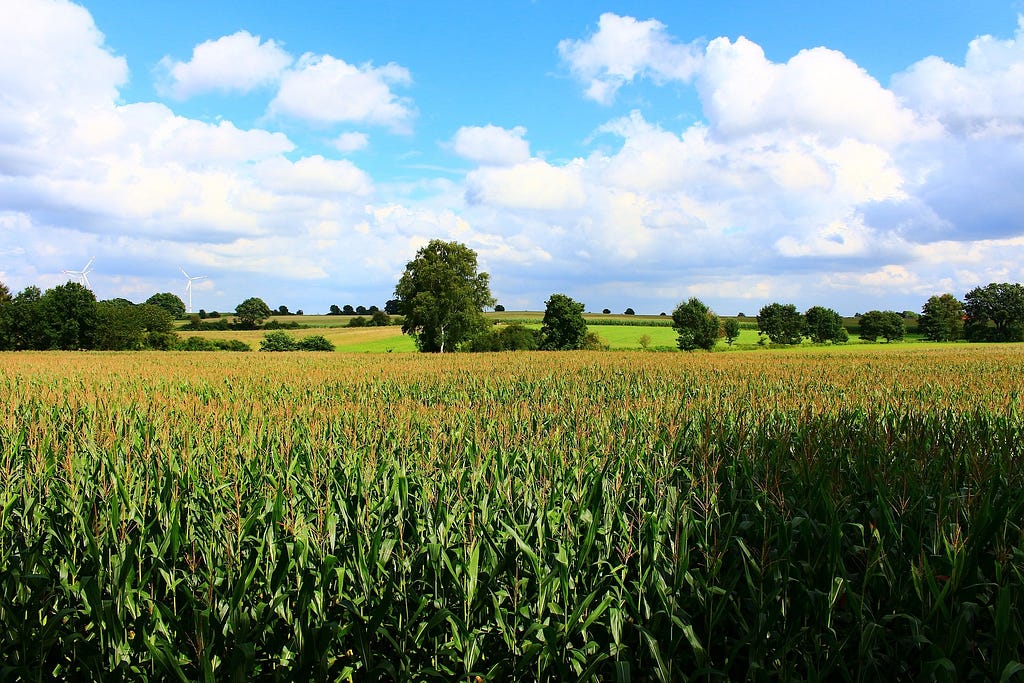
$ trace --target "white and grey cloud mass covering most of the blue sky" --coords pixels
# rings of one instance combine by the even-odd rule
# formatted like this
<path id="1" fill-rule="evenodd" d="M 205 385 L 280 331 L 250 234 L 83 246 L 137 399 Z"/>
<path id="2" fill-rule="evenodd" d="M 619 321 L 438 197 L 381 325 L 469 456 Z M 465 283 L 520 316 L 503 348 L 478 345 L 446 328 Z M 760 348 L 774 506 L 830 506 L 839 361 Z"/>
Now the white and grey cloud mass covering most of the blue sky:
<path id="1" fill-rule="evenodd" d="M 459 121 L 423 144 L 462 167 L 407 181 L 345 156 L 378 140 L 351 128 L 415 146 L 420 112 L 398 94 L 415 95 L 411 68 L 296 58 L 240 31 L 164 59 L 171 102 L 125 102 L 128 61 L 86 9 L 7 3 L 0 280 L 52 286 L 96 255 L 101 297 L 180 290 L 180 265 L 209 275 L 197 295 L 212 303 L 197 307 L 256 294 L 316 311 L 383 303 L 441 238 L 478 251 L 509 307 L 564 291 L 595 309 L 699 296 L 725 313 L 772 300 L 852 313 L 1024 281 L 1024 22 L 889 84 L 831 49 L 776 62 L 746 38 L 688 42 L 611 13 L 556 48 L 566 96 L 603 106 L 671 83 L 693 88 L 701 116 L 640 105 L 580 131 L 568 159 L 532 150 L 523 126 Z M 174 109 L 258 92 L 252 128 Z"/>

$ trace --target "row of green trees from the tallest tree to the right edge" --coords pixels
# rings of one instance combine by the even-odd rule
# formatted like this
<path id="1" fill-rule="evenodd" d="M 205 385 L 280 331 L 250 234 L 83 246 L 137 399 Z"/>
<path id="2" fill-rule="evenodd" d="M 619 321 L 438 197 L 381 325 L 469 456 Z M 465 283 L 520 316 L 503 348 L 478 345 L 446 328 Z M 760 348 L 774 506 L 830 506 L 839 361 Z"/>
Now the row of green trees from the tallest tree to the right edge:
<path id="1" fill-rule="evenodd" d="M 600 346 L 587 332 L 584 304 L 564 294 L 553 294 L 546 302 L 540 331 L 515 323 L 495 327 L 483 316 L 483 309 L 495 305 L 489 275 L 477 271 L 476 253 L 460 243 L 434 240 L 420 249 L 407 263 L 395 296 L 395 310 L 404 316 L 402 331 L 421 351 Z M 738 321 L 723 322 L 696 298 L 680 303 L 672 322 L 679 348 L 687 351 L 711 350 L 723 337 L 731 345 L 740 331 Z M 850 338 L 843 317 L 824 306 L 800 312 L 794 304 L 770 303 L 758 313 L 757 326 L 762 344 L 793 345 L 805 338 L 842 344 Z M 992 283 L 971 290 L 964 301 L 952 294 L 935 295 L 923 306 L 918 329 L 930 341 L 1024 341 L 1024 286 Z M 894 342 L 905 337 L 906 327 L 901 313 L 870 310 L 858 316 L 856 332 L 865 341 Z"/>

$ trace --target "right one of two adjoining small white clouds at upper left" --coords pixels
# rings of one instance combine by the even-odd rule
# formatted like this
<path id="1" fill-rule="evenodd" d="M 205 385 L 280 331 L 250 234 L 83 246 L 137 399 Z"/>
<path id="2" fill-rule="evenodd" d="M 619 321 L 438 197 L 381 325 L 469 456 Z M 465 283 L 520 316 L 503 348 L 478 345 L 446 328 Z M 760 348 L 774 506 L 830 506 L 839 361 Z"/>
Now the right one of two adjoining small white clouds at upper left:
<path id="1" fill-rule="evenodd" d="M 285 73 L 270 111 L 319 124 L 369 123 L 407 131 L 414 116 L 411 102 L 391 86 L 412 83 L 398 65 L 355 67 L 331 55 L 304 54 Z"/>

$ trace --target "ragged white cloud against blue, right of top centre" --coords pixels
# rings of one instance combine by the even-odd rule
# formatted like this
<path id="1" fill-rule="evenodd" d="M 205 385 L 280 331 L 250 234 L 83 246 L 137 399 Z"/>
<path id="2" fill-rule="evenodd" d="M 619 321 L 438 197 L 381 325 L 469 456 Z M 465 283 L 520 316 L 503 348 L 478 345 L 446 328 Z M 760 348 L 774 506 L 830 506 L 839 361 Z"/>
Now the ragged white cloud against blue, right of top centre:
<path id="1" fill-rule="evenodd" d="M 558 43 L 558 53 L 586 84 L 587 96 L 602 104 L 637 78 L 688 81 L 700 63 L 698 46 L 676 42 L 660 22 L 610 12 L 601 14 L 597 32 L 585 40 Z"/>

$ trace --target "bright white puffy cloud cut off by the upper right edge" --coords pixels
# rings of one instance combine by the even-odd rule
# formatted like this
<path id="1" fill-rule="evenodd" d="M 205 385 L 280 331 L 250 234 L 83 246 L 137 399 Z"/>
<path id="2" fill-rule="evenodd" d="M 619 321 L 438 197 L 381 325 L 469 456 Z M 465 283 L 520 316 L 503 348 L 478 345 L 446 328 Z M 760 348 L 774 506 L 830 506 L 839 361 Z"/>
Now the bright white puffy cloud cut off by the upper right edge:
<path id="1" fill-rule="evenodd" d="M 1024 16 L 1013 39 L 971 41 L 964 66 L 926 57 L 897 74 L 893 90 L 953 132 L 1024 132 Z"/>

